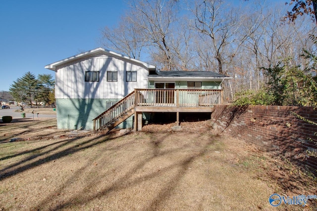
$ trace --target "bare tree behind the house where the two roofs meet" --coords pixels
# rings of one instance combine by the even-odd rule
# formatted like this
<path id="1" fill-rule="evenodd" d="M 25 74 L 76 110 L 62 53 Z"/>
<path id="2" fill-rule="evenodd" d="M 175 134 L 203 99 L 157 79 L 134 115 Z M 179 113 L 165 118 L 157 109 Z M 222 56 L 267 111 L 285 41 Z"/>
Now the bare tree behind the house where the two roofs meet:
<path id="1" fill-rule="evenodd" d="M 175 68 L 171 40 L 176 5 L 176 0 L 133 0 L 131 4 L 131 22 L 142 33 L 152 59 L 161 63 L 162 70 Z"/>

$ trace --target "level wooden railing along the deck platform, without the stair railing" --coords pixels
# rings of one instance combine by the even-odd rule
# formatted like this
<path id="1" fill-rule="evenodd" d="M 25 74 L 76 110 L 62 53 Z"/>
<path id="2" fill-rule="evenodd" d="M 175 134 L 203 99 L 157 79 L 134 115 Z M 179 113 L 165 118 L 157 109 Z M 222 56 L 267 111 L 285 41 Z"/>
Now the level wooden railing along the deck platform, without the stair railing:
<path id="1" fill-rule="evenodd" d="M 136 106 L 200 107 L 222 103 L 222 89 L 135 89 Z"/>

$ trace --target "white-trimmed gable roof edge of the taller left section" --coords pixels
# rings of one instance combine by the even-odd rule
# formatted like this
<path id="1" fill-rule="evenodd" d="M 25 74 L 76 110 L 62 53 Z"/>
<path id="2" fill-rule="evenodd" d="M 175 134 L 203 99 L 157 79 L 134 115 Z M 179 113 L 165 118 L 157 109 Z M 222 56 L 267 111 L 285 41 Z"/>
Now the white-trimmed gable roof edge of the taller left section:
<path id="1" fill-rule="evenodd" d="M 68 57 L 66 59 L 54 62 L 52 64 L 46 65 L 45 68 L 49 69 L 49 70 L 56 71 L 56 68 L 59 65 L 62 65 L 62 64 L 68 63 L 70 61 L 80 59 L 80 58 L 89 57 L 89 56 L 92 56 L 92 55 L 95 55 L 95 54 L 98 54 L 98 53 L 104 53 L 105 55 L 109 55 L 109 56 L 112 56 L 112 57 L 115 57 L 115 58 L 121 58 L 121 59 L 130 61 L 130 62 L 135 62 L 137 64 L 145 66 L 148 69 L 152 69 L 152 70 L 156 69 L 156 66 L 154 66 L 152 64 L 149 64 L 149 63 L 146 63 L 146 62 L 142 62 L 142 61 L 137 60 L 137 59 L 133 59 L 131 57 L 128 57 L 128 56 L 125 56 L 125 55 L 122 55 L 122 54 L 107 50 L 107 49 L 102 48 L 102 47 L 98 47 L 98 48 L 95 48 L 93 50 L 89 50 L 89 51 L 86 51 L 84 53 L 80 53 L 80 54 L 77 54 L 75 56 L 71 56 L 71 57 Z"/>

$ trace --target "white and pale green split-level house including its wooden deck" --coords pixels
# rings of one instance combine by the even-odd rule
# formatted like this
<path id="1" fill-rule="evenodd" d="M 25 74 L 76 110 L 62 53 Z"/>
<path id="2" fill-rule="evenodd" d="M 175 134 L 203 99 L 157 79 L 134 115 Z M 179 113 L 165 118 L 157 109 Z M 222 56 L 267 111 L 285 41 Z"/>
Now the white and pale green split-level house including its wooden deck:
<path id="1" fill-rule="evenodd" d="M 104 48 L 45 68 L 55 71 L 57 127 L 95 131 L 133 124 L 141 129 L 142 120 L 156 111 L 211 112 L 222 100 L 222 82 L 230 79 L 213 72 L 157 71 Z"/>

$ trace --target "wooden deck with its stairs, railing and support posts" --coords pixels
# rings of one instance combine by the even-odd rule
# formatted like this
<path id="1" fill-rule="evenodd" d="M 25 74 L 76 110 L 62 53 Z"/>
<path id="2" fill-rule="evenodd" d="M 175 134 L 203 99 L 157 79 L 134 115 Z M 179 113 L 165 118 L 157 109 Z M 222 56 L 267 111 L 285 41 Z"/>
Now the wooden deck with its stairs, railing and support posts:
<path id="1" fill-rule="evenodd" d="M 125 98 L 96 117 L 94 131 L 109 131 L 131 116 L 134 111 L 134 128 L 142 129 L 143 112 L 174 112 L 176 124 L 179 124 L 179 113 L 213 112 L 213 106 L 221 104 L 221 89 L 135 89 Z"/>

